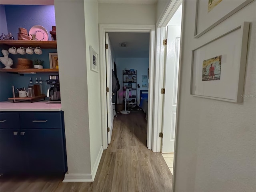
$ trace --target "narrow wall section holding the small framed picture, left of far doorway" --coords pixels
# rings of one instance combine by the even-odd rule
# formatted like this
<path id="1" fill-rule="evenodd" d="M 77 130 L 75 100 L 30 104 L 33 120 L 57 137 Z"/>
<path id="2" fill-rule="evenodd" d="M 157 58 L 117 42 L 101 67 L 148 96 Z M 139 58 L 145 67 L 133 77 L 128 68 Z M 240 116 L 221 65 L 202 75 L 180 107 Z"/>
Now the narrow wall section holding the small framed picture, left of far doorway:
<path id="1" fill-rule="evenodd" d="M 99 54 L 98 2 L 84 1 L 91 169 L 102 146 L 100 72 L 90 70 L 90 46 Z"/>

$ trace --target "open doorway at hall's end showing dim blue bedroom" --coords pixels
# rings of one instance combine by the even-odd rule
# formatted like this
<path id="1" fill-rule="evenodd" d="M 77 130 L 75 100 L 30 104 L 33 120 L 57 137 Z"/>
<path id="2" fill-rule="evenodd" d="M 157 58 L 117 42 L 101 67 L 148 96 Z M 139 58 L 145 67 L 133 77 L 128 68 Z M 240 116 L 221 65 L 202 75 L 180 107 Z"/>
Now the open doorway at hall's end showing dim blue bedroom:
<path id="1" fill-rule="evenodd" d="M 108 144 L 111 142 L 112 125 L 114 125 L 114 132 L 121 129 L 121 133 L 130 133 L 127 136 L 124 134 L 120 136 L 133 138 L 134 142 L 130 144 L 131 146 L 144 145 L 146 147 L 150 34 L 108 32 L 106 44 L 108 44 L 106 49 L 107 76 L 112 78 L 113 87 L 109 86 L 107 94 L 114 98 L 112 102 L 114 108 L 108 112 L 110 114 Z M 118 87 L 117 81 L 120 89 L 111 92 L 114 87 Z M 109 122 L 113 117 L 114 122 Z"/>

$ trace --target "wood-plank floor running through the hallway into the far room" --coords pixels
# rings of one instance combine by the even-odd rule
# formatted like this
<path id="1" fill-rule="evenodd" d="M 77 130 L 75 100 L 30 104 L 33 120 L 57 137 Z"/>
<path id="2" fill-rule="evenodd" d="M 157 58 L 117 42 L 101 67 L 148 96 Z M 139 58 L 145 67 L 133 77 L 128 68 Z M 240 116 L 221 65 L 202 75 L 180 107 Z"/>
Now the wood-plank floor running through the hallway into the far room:
<path id="1" fill-rule="evenodd" d="M 118 114 L 111 144 L 104 150 L 94 182 L 62 183 L 62 177 L 0 177 L 1 192 L 170 192 L 172 174 L 160 153 L 146 147 L 141 111 Z"/>

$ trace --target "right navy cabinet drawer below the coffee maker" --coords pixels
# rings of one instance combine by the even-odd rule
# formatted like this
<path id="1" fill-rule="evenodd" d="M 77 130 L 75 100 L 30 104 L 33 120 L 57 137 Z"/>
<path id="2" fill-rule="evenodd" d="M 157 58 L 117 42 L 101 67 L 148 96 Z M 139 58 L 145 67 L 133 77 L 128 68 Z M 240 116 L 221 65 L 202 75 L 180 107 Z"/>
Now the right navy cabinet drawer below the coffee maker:
<path id="1" fill-rule="evenodd" d="M 20 127 L 28 128 L 62 128 L 61 112 L 24 112 L 20 113 Z"/>

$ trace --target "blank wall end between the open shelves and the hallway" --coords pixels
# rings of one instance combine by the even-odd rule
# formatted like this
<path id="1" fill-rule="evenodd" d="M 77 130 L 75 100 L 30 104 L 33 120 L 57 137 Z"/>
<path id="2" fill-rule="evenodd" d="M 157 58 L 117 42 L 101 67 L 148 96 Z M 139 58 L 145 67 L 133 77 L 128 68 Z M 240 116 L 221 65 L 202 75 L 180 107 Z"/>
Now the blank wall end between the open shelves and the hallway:
<path id="1" fill-rule="evenodd" d="M 55 1 L 60 91 L 69 174 L 90 174 L 84 1 Z"/>

